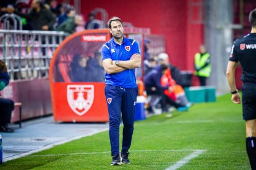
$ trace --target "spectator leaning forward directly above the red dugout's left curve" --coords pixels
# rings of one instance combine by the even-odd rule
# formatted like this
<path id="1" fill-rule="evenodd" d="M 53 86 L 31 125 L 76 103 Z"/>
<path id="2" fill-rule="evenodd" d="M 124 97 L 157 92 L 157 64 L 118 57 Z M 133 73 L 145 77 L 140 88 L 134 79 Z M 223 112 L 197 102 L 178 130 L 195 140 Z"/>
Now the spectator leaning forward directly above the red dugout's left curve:
<path id="1" fill-rule="evenodd" d="M 75 33 L 75 28 L 78 25 L 82 25 L 82 23 L 83 18 L 80 15 L 75 15 L 75 17 L 69 17 L 65 22 L 59 25 L 59 27 L 56 30 L 72 34 Z"/>

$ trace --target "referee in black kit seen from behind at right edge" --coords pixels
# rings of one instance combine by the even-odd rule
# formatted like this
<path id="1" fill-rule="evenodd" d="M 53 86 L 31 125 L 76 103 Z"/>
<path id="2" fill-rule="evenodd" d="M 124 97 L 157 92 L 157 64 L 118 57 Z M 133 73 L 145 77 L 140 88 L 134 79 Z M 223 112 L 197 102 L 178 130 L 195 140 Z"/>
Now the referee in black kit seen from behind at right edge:
<path id="1" fill-rule="evenodd" d="M 241 103 L 236 89 L 234 71 L 237 62 L 242 66 L 242 112 L 246 127 L 246 150 L 252 169 L 256 169 L 256 9 L 249 15 L 252 31 L 234 41 L 228 62 L 227 77 L 234 103 Z"/>

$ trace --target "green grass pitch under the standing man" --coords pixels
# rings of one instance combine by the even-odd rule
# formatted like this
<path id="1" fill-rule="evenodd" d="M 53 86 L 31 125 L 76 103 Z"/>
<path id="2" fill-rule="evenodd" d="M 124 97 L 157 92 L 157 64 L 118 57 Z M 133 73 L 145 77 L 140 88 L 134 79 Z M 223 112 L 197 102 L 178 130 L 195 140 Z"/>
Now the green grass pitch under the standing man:
<path id="1" fill-rule="evenodd" d="M 203 153 L 179 169 L 250 169 L 242 107 L 231 95 L 197 103 L 187 112 L 135 122 L 131 164 L 110 166 L 108 132 L 7 161 L 0 169 L 166 169 L 195 150 Z"/>

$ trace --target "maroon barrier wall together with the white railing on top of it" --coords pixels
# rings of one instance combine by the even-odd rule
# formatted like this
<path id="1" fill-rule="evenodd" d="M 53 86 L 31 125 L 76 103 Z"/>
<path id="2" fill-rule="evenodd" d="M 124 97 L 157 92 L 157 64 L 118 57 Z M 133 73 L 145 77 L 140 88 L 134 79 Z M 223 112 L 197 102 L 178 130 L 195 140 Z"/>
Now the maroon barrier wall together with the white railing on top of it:
<path id="1" fill-rule="evenodd" d="M 2 97 L 22 103 L 22 119 L 52 113 L 49 62 L 66 38 L 58 31 L 0 30 L 0 60 L 7 65 L 11 81 Z M 11 122 L 20 121 L 14 110 Z"/>

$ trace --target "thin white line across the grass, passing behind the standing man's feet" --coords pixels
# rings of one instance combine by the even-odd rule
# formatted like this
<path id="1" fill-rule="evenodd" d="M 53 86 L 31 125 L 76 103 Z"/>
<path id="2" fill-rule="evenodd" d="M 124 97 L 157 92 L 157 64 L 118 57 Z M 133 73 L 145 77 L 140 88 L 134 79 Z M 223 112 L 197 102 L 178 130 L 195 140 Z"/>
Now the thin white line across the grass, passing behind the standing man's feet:
<path id="1" fill-rule="evenodd" d="M 177 149 L 177 150 L 130 150 L 130 152 L 182 152 L 182 151 L 194 151 L 204 152 L 205 150 L 194 150 L 194 149 Z M 61 154 L 46 154 L 46 155 L 30 155 L 29 157 L 44 157 L 44 156 L 69 156 L 69 155 L 94 155 L 101 153 L 111 153 L 110 151 L 105 152 L 80 152 L 80 153 L 61 153 Z"/>

